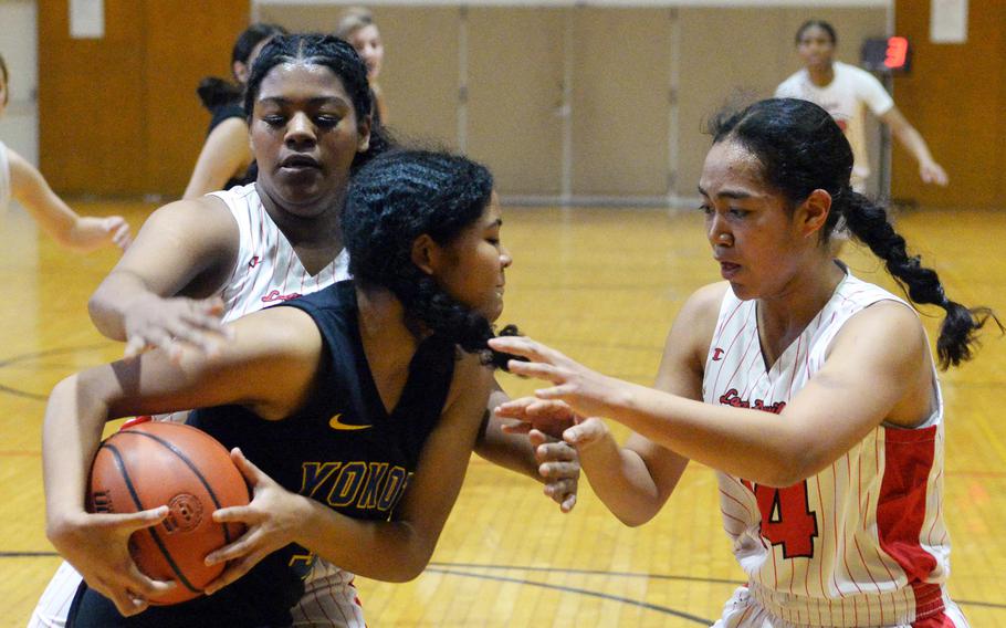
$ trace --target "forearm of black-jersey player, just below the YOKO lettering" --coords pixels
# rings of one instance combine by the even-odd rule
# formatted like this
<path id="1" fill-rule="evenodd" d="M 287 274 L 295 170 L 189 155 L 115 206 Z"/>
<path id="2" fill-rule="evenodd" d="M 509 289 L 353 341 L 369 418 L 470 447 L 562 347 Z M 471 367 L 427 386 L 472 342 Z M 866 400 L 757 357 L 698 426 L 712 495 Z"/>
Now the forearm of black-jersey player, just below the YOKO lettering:
<path id="1" fill-rule="evenodd" d="M 366 578 L 404 583 L 426 568 L 437 543 L 408 522 L 367 521 L 302 498 L 295 541 L 338 567 Z"/>

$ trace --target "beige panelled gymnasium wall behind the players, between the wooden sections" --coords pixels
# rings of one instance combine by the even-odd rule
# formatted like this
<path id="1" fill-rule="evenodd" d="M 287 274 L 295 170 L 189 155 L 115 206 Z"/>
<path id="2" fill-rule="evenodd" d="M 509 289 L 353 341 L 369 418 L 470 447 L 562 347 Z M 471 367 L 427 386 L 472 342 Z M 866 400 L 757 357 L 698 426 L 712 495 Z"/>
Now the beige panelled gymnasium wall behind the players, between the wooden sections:
<path id="1" fill-rule="evenodd" d="M 331 28 L 340 10 L 256 3 L 260 19 L 291 29 Z M 887 23 L 886 9 L 876 6 L 381 4 L 374 12 L 386 44 L 381 86 L 390 125 L 463 147 L 493 168 L 503 193 L 532 199 L 563 191 L 694 197 L 709 147 L 704 121 L 730 101 L 771 96 L 799 69 L 793 38 L 800 23 L 814 17 L 836 24 L 848 42 L 839 57 L 852 63 L 862 38 L 882 35 Z M 568 145 L 564 124 L 572 127 Z"/>

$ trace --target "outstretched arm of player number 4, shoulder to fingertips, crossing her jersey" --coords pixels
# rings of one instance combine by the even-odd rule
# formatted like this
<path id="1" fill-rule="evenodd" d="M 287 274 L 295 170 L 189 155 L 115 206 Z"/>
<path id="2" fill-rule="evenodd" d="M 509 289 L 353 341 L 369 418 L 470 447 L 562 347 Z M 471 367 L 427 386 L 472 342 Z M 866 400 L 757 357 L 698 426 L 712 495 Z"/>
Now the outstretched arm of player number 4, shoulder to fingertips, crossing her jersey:
<path id="1" fill-rule="evenodd" d="M 526 338 L 491 343 L 531 358 L 513 362 L 515 373 L 554 384 L 538 390 L 539 398 L 611 417 L 681 456 L 769 486 L 788 486 L 820 471 L 881 421 L 918 425 L 932 399 L 922 326 L 914 312 L 892 302 L 846 323 L 825 365 L 778 417 L 606 377 Z"/>

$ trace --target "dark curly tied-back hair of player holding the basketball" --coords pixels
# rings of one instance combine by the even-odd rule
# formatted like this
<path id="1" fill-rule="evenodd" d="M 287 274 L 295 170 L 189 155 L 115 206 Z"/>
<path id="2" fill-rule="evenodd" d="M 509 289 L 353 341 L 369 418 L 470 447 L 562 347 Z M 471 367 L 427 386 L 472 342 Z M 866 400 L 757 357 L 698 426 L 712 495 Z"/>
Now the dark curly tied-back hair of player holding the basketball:
<path id="1" fill-rule="evenodd" d="M 502 368 L 512 356 L 489 349 L 492 324 L 447 294 L 412 262 L 417 238 L 427 234 L 440 245 L 450 244 L 483 214 L 492 189 L 489 170 L 464 157 L 431 150 L 389 151 L 353 177 L 342 230 L 354 281 L 391 291 L 405 307 L 406 324 L 413 334 L 432 331 Z M 515 335 L 516 327 L 509 326 L 503 334 Z"/>

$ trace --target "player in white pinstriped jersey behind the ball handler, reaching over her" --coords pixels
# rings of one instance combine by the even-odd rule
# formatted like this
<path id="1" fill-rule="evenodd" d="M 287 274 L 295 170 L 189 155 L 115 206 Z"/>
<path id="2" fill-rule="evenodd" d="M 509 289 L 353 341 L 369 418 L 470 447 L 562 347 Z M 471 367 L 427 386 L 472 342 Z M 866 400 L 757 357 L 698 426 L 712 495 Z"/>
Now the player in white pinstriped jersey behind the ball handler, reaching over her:
<path id="1" fill-rule="evenodd" d="M 298 49 L 305 38 L 276 38 L 255 62 L 245 94 L 254 111 L 251 140 L 258 184 L 155 211 L 132 248 L 91 300 L 95 325 L 127 341 L 127 355 L 160 346 L 207 352 L 223 322 L 346 279 L 338 212 L 350 170 L 385 148 L 371 134 L 366 67 L 345 42 Z M 306 44 L 305 44 L 306 45 Z M 300 55 L 300 56 L 298 56 Z M 291 60 L 307 59 L 307 80 Z M 327 67 L 331 72 L 321 73 Z M 565 446 L 536 436 L 512 439 L 490 421 L 476 451 L 509 469 L 536 474 L 539 462 L 564 464 L 542 478 L 565 510 L 575 501 L 578 467 Z M 553 471 L 555 471 L 553 467 Z M 353 575 L 318 561 L 294 611 L 295 625 L 363 626 Z M 31 628 L 62 627 L 81 582 L 66 563 L 43 593 Z"/>

